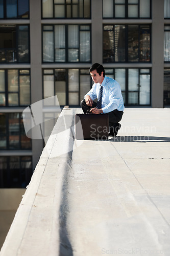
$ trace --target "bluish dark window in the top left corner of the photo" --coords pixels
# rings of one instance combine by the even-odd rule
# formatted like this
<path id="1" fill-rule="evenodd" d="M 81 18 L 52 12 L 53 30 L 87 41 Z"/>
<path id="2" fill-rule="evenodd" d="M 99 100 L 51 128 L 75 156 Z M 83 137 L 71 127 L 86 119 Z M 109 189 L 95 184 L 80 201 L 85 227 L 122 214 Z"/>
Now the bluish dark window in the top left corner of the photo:
<path id="1" fill-rule="evenodd" d="M 29 18 L 29 0 L 0 0 L 0 19 Z"/>

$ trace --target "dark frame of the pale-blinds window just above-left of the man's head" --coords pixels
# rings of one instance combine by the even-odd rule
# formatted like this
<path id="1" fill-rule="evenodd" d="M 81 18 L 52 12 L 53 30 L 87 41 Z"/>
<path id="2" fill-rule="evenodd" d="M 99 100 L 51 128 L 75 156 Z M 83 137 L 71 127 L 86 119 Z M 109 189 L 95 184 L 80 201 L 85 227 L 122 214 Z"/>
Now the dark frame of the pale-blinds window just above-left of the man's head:
<path id="1" fill-rule="evenodd" d="M 60 26 L 60 25 L 65 27 L 65 48 L 61 48 L 61 49 L 65 49 L 65 61 L 55 61 L 55 55 L 56 55 L 56 53 L 55 53 L 55 26 Z M 76 48 L 79 50 L 79 53 L 78 53 L 79 61 L 68 61 L 68 50 L 70 49 L 70 48 L 68 48 L 68 26 L 70 26 L 70 25 L 76 25 L 79 28 L 79 35 L 78 35 L 79 48 Z M 53 44 L 53 52 L 54 52 L 53 61 L 44 61 L 43 60 L 43 32 L 48 31 L 48 30 L 43 29 L 44 26 L 52 26 L 53 27 L 53 30 L 49 30 L 49 31 L 53 31 L 53 42 L 54 42 L 54 44 Z M 89 26 L 89 30 L 83 30 L 83 29 L 81 29 L 81 26 Z M 42 31 L 42 39 L 41 39 L 41 41 L 42 41 L 42 54 L 41 54 L 42 63 L 60 63 L 60 64 L 61 63 L 91 63 L 91 24 L 42 24 L 41 31 Z M 89 61 L 80 61 L 80 32 L 81 31 L 89 31 L 90 32 L 90 52 L 89 52 L 90 60 Z"/>

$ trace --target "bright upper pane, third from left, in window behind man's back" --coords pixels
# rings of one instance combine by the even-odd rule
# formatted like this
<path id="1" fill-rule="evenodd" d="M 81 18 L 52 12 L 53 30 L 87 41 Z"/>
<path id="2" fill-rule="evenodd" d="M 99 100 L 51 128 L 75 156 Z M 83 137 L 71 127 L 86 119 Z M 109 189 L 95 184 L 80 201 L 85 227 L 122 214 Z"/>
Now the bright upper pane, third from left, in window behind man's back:
<path id="1" fill-rule="evenodd" d="M 139 89 L 139 70 L 129 69 L 129 91 L 138 91 Z"/>

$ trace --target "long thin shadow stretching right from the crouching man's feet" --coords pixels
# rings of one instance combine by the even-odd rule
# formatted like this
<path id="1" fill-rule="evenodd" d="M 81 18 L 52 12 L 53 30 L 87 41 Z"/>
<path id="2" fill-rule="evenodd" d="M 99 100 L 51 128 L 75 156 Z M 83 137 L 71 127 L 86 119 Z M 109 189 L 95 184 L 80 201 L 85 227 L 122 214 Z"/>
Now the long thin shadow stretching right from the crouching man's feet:
<path id="1" fill-rule="evenodd" d="M 109 137 L 109 141 L 114 142 L 170 142 L 169 137 L 155 137 L 155 136 L 116 136 Z"/>

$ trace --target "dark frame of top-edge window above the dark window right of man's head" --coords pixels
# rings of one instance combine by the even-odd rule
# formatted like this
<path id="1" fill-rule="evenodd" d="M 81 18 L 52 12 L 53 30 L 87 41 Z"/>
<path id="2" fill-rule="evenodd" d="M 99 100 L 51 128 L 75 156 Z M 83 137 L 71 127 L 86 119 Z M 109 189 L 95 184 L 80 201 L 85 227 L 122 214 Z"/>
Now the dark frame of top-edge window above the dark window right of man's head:
<path id="1" fill-rule="evenodd" d="M 138 4 L 128 4 L 128 0 L 125 0 L 125 4 L 117 4 L 115 3 L 115 0 L 112 0 L 113 1 L 113 17 L 104 17 L 104 13 L 102 14 L 103 15 L 103 19 L 152 19 L 152 0 L 150 0 L 150 17 L 140 17 L 140 0 L 138 0 Z M 102 7 L 103 7 L 104 3 L 103 3 L 103 0 L 102 0 Z M 125 5 L 125 17 L 115 17 L 115 6 L 116 5 Z M 138 6 L 138 17 L 128 17 L 128 7 L 130 5 L 137 5 Z"/>

